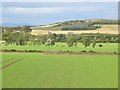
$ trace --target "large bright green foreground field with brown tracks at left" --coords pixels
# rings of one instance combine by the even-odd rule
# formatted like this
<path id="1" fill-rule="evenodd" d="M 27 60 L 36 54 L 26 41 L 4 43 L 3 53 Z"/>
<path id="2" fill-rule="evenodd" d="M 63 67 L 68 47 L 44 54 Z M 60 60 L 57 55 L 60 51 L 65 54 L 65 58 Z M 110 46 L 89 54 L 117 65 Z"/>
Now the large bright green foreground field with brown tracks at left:
<path id="1" fill-rule="evenodd" d="M 3 69 L 3 88 L 118 87 L 117 55 L 3 53 L 2 57 L 3 66 L 22 59 Z"/>

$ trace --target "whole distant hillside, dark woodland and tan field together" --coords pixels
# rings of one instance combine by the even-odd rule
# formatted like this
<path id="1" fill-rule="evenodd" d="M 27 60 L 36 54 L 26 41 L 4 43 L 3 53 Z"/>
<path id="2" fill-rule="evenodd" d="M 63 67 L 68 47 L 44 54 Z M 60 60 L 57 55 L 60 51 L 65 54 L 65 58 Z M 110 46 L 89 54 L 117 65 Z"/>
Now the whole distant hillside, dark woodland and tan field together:
<path id="1" fill-rule="evenodd" d="M 32 35 L 47 34 L 48 32 L 56 34 L 75 34 L 81 33 L 108 33 L 118 34 L 117 20 L 107 19 L 89 19 L 89 20 L 71 20 L 54 23 L 47 26 L 31 27 Z"/>

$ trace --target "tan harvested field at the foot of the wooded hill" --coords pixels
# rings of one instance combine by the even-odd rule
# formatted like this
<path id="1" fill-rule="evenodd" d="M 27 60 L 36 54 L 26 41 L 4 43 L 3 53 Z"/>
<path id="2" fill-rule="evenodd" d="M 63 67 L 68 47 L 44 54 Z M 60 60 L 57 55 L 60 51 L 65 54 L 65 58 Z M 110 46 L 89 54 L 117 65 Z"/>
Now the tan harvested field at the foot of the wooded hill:
<path id="1" fill-rule="evenodd" d="M 46 29 L 41 29 L 37 27 L 36 29 L 32 29 L 32 35 L 41 35 L 47 34 L 48 32 L 55 34 L 68 34 L 69 32 L 75 34 L 81 33 L 104 33 L 104 34 L 118 34 L 118 25 L 101 25 L 101 28 L 96 30 L 79 30 L 79 31 L 61 31 L 60 28 L 55 27 L 47 27 Z"/>

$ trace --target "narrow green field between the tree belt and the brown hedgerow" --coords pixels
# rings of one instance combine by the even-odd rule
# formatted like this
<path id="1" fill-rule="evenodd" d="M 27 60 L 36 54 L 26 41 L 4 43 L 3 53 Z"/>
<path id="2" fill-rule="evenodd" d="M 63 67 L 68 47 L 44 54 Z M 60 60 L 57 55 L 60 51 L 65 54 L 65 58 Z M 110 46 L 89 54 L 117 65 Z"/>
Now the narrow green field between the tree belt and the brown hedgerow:
<path id="1" fill-rule="evenodd" d="M 118 44 L 117 43 L 101 43 L 103 47 L 99 47 L 100 43 L 96 44 L 96 47 L 93 48 L 92 45 L 90 47 L 85 48 L 82 44 L 78 44 L 77 47 L 68 47 L 67 43 L 56 43 L 55 46 L 47 47 L 45 45 L 35 45 L 35 46 L 16 46 L 16 45 L 3 45 L 3 49 L 17 49 L 17 50 L 44 50 L 44 51 L 74 51 L 80 52 L 82 50 L 93 50 L 96 52 L 118 52 Z M 64 47 L 63 47 L 64 46 Z"/>

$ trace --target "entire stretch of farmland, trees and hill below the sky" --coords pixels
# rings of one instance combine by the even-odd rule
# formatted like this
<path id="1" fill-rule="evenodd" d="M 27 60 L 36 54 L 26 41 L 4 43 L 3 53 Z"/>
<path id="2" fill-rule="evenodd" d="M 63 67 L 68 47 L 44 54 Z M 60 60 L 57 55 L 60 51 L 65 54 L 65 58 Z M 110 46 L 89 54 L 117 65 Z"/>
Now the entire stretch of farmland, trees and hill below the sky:
<path id="1" fill-rule="evenodd" d="M 3 27 L 3 88 L 117 88 L 116 20 Z"/>

